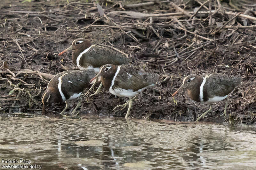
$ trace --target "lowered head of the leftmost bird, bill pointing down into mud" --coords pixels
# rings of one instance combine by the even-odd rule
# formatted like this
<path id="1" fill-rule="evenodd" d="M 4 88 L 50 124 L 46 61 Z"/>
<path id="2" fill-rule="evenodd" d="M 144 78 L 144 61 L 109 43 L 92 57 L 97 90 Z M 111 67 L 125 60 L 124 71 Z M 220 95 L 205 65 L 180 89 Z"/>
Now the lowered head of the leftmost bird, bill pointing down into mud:
<path id="1" fill-rule="evenodd" d="M 52 87 L 48 87 L 43 95 L 42 95 L 42 103 L 43 103 L 43 110 L 42 110 L 42 115 L 45 112 L 45 108 L 46 106 L 48 106 L 49 104 L 55 103 L 55 102 L 59 102 L 60 99 L 58 99 L 57 95 L 54 92 L 54 88 Z"/>

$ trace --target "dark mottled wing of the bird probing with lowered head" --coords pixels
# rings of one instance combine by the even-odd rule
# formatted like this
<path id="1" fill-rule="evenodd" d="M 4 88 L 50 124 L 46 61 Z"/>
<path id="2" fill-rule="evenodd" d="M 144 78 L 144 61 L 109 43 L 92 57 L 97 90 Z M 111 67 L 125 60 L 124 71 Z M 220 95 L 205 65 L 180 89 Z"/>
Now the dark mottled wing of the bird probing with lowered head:
<path id="1" fill-rule="evenodd" d="M 61 89 L 65 97 L 74 93 L 80 93 L 88 87 L 90 80 L 94 77 L 94 70 L 72 70 L 62 77 Z M 72 92 L 70 91 L 72 89 Z"/>

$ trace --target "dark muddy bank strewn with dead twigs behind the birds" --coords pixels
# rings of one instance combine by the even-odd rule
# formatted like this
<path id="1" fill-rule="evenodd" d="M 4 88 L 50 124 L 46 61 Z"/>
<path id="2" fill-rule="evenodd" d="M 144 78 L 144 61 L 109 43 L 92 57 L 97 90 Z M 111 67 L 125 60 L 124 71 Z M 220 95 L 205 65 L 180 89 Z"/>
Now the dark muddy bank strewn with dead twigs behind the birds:
<path id="1" fill-rule="evenodd" d="M 205 2 L 174 3 L 189 12 L 200 7 L 200 1 Z M 155 91 L 149 88 L 140 94 L 139 99 L 133 102 L 130 116 L 195 121 L 209 106 L 192 101 L 185 90 L 174 98 L 172 93 L 189 74 L 220 72 L 243 78 L 243 84 L 229 97 L 226 121 L 256 124 L 256 20 L 241 16 L 233 18 L 238 14 L 235 12 L 253 17 L 256 7 L 250 4 L 254 1 L 232 1 L 233 5 L 223 1 L 220 5 L 217 1 L 207 2 L 199 10 L 205 11 L 205 14 L 198 12 L 194 19 L 183 13 L 163 15 L 180 12 L 167 1 L 130 7 L 129 4 L 152 1 L 132 0 L 123 4 L 123 1 L 99 0 L 107 16 L 101 19 L 99 13 L 102 11 L 99 12 L 96 2 L 91 0 L 69 0 L 69 4 L 64 0 L 21 2 L 4 0 L 0 4 L 2 115 L 18 115 L 20 112 L 41 114 L 41 96 L 47 81 L 37 73 L 19 71 L 29 69 L 57 74 L 77 69 L 72 63 L 71 51 L 62 56 L 58 53 L 69 47 L 74 39 L 87 38 L 92 43 L 121 50 L 132 58 L 133 65 L 164 75 L 161 80 L 169 76 L 170 79 L 155 87 Z M 208 8 L 218 11 L 210 13 Z M 4 61 L 7 66 L 3 65 Z M 16 85 L 24 90 L 13 90 Z M 126 100 L 104 90 L 97 96 L 84 99 L 80 112 L 124 116 L 127 109 L 121 112 L 112 109 Z M 69 109 L 74 108 L 76 102 L 73 100 Z M 204 120 L 223 122 L 223 117 L 215 117 L 223 113 L 224 106 L 225 101 L 216 103 Z M 46 112 L 58 115 L 64 107 L 64 104 L 55 104 Z"/>

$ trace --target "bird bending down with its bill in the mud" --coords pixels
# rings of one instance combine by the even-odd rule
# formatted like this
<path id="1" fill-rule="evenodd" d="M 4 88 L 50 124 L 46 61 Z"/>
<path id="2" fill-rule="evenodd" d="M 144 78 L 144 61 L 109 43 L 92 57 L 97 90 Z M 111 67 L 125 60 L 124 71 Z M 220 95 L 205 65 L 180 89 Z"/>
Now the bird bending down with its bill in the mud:
<path id="1" fill-rule="evenodd" d="M 76 105 L 71 115 L 74 115 L 76 109 L 81 106 L 82 98 L 80 97 L 82 91 L 88 87 L 89 81 L 94 76 L 94 70 L 69 70 L 56 74 L 48 83 L 47 89 L 42 95 L 42 103 L 44 105 L 42 115 L 45 113 L 47 105 L 57 102 L 65 102 L 66 107 L 62 110 L 62 115 L 68 108 L 67 100 L 76 99 L 79 97 L 80 101 Z"/>

